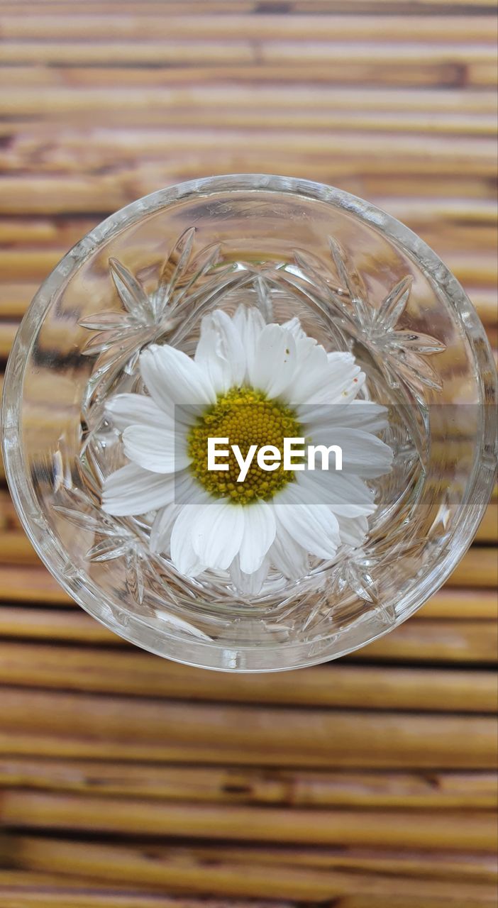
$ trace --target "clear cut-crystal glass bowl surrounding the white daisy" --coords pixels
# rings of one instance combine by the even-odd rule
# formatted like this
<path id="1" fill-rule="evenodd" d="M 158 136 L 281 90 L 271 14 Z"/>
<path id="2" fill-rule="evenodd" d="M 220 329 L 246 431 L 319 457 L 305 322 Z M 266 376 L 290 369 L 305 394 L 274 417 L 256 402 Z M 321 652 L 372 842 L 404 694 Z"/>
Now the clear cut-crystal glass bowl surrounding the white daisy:
<path id="1" fill-rule="evenodd" d="M 389 408 L 393 449 L 364 544 L 252 590 L 224 571 L 182 577 L 149 548 L 154 513 L 100 506 L 125 462 L 105 402 L 137 389 L 149 344 L 192 354 L 202 317 L 240 302 L 352 351 L 364 397 Z M 451 574 L 493 488 L 495 400 L 472 304 L 403 224 L 320 183 L 215 177 L 116 212 L 46 279 L 6 370 L 5 469 L 40 558 L 106 627 L 193 666 L 294 668 L 386 633 Z"/>

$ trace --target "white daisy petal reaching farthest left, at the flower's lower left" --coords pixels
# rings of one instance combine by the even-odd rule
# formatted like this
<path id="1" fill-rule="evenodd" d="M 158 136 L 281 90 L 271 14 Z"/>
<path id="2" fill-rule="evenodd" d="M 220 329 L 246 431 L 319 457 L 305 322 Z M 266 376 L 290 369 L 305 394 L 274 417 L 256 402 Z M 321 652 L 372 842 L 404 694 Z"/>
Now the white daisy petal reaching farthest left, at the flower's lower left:
<path id="1" fill-rule="evenodd" d="M 105 479 L 102 509 L 124 517 L 164 508 L 174 500 L 174 483 L 174 473 L 163 476 L 129 463 Z"/>

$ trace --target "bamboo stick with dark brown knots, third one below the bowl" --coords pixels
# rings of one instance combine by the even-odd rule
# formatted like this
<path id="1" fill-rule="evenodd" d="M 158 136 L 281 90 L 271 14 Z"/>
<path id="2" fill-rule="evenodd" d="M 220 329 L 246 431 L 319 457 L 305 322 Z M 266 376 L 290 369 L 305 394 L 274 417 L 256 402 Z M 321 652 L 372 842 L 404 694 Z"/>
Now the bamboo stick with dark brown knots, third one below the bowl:
<path id="1" fill-rule="evenodd" d="M 0 786 L 52 792 L 287 807 L 493 809 L 493 773 L 347 773 L 236 767 L 109 765 L 0 757 Z M 310 863 L 314 853 L 309 857 Z M 343 855 L 344 856 L 344 855 Z M 315 861 L 318 859 L 315 856 Z"/>

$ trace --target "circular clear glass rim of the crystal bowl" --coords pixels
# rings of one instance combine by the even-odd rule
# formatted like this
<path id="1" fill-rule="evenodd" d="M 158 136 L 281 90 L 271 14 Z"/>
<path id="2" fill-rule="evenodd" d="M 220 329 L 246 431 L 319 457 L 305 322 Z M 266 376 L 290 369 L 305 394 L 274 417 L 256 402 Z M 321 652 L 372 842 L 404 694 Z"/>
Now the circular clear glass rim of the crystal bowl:
<path id="1" fill-rule="evenodd" d="M 332 208 L 354 215 L 381 232 L 394 244 L 403 246 L 403 252 L 406 252 L 413 259 L 413 262 L 422 269 L 427 279 L 443 294 L 445 301 L 451 307 L 455 321 L 459 323 L 473 356 L 476 374 L 479 376 L 480 403 L 491 405 L 481 408 L 483 413 L 482 427 L 479 436 L 476 437 L 473 469 L 465 489 L 465 501 L 467 503 L 465 513 L 463 514 L 463 508 L 461 508 L 453 527 L 450 543 L 446 545 L 443 558 L 440 559 L 437 565 L 427 568 L 424 577 L 422 579 L 419 578 L 416 586 L 413 585 L 403 594 L 403 597 L 400 597 L 398 603 L 400 606 L 399 619 L 389 627 L 377 627 L 372 636 L 363 640 L 358 646 L 346 646 L 344 651 L 338 653 L 327 653 L 326 647 L 322 647 L 316 657 L 309 656 L 309 642 L 296 643 L 293 641 L 265 644 L 264 646 L 233 645 L 232 650 L 234 652 L 244 653 L 245 656 L 254 655 L 254 666 L 244 666 L 242 668 L 226 663 L 224 655 L 226 655 L 229 647 L 225 643 L 217 642 L 216 640 L 204 641 L 199 639 L 187 642 L 185 637 L 176 635 L 173 629 L 162 630 L 154 627 L 154 633 L 157 637 L 171 641 L 171 646 L 167 653 L 160 651 L 147 640 L 141 639 L 137 641 L 134 630 L 139 633 L 139 636 L 142 635 L 144 637 L 145 634 L 146 637 L 147 628 L 150 631 L 152 627 L 147 624 L 144 618 L 127 612 L 125 607 L 123 607 L 123 612 L 126 613 L 127 618 L 123 627 L 115 627 L 114 623 L 110 624 L 105 621 L 99 614 L 102 610 L 105 595 L 89 578 L 85 580 L 85 587 L 82 587 L 77 582 L 76 572 L 74 570 L 73 572 L 71 571 L 72 566 L 69 559 L 64 559 L 60 543 L 57 544 L 57 539 L 45 520 L 45 513 L 38 504 L 33 482 L 25 472 L 21 427 L 25 365 L 35 341 L 36 333 L 55 294 L 63 289 L 75 271 L 101 245 L 113 239 L 127 227 L 139 222 L 143 217 L 166 209 L 174 202 L 199 199 L 217 192 L 275 192 L 284 193 L 294 198 L 304 197 L 309 201 L 325 202 L 330 204 Z M 164 189 L 151 192 L 105 218 L 92 231 L 86 233 L 72 249 L 66 252 L 65 256 L 58 262 L 55 269 L 50 272 L 35 293 L 35 297 L 25 312 L 25 316 L 15 335 L 15 341 L 5 368 L 1 409 L 5 476 L 26 535 L 34 546 L 37 555 L 44 562 L 45 567 L 48 568 L 58 584 L 65 589 L 65 592 L 70 597 L 75 599 L 79 606 L 83 607 L 85 611 L 89 612 L 105 627 L 109 627 L 119 636 L 124 637 L 131 643 L 138 642 L 139 646 L 154 652 L 156 655 L 166 656 L 186 665 L 203 666 L 220 671 L 261 672 L 311 666 L 325 662 L 333 656 L 334 658 L 343 656 L 344 653 L 372 643 L 378 637 L 383 637 L 385 633 L 388 633 L 394 627 L 398 627 L 443 585 L 444 581 L 452 573 L 453 568 L 463 558 L 465 551 L 473 541 L 473 536 L 483 518 L 484 510 L 493 491 L 494 462 L 490 451 L 493 450 L 496 439 L 496 419 L 493 404 L 495 404 L 497 396 L 496 371 L 494 369 L 492 350 L 483 324 L 473 308 L 472 302 L 463 291 L 459 281 L 456 280 L 453 273 L 444 265 L 439 256 L 416 233 L 404 226 L 402 222 L 399 222 L 392 215 L 384 212 L 371 202 L 366 202 L 358 196 L 344 190 L 335 189 L 333 186 L 324 183 L 264 173 L 234 173 L 204 177 L 184 183 L 176 183 Z M 474 494 L 477 489 L 479 489 L 479 495 Z M 403 608 L 401 608 L 402 603 Z M 329 639 L 332 639 L 332 637 Z M 179 652 L 182 648 L 184 649 L 183 655 Z M 274 666 L 275 654 L 283 654 L 284 651 L 288 652 L 289 650 L 296 651 L 297 660 L 291 665 L 285 663 Z M 299 658 L 300 651 L 302 651 L 301 659 Z M 205 664 L 208 652 L 212 654 L 213 664 L 211 665 Z M 216 654 L 222 655 L 217 658 L 215 657 Z M 267 664 L 260 665 L 259 662 Z"/>

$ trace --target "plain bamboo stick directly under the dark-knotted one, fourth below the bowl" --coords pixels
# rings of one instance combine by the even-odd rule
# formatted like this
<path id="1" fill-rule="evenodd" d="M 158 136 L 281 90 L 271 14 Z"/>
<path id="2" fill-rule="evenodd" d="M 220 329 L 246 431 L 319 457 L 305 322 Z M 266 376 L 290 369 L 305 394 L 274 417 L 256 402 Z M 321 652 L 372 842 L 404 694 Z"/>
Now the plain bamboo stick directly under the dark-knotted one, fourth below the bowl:
<path id="1" fill-rule="evenodd" d="M 71 829 L 241 841 L 370 845 L 477 851 L 494 854 L 495 817 L 466 811 L 436 814 L 401 810 L 329 811 L 302 808 L 289 823 L 278 807 L 139 801 L 95 795 L 5 790 L 0 817 L 7 829 Z M 373 822 L 374 821 L 374 822 Z M 250 894 L 250 893 L 247 893 Z M 269 893 L 257 893 L 269 894 Z M 273 893 L 272 893 L 273 894 Z"/>

